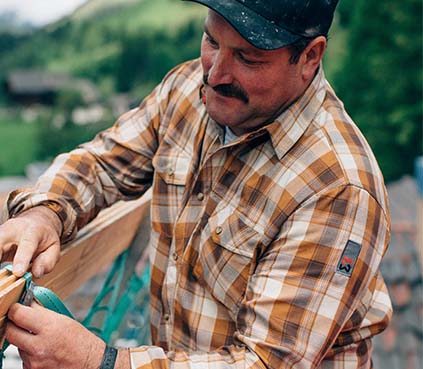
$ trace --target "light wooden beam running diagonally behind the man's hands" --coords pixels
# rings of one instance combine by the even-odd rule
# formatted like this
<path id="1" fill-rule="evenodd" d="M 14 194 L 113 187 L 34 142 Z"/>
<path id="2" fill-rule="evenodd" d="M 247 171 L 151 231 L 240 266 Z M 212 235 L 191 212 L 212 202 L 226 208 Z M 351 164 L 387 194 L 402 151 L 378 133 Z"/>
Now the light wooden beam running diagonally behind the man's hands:
<path id="1" fill-rule="evenodd" d="M 119 202 L 100 212 L 74 241 L 64 246 L 54 270 L 34 282 L 50 288 L 60 298 L 69 296 L 131 245 L 141 220 L 149 212 L 150 200 L 148 191 L 138 200 Z M 19 300 L 24 285 L 23 278 L 0 271 L 0 343 L 7 311 Z"/>

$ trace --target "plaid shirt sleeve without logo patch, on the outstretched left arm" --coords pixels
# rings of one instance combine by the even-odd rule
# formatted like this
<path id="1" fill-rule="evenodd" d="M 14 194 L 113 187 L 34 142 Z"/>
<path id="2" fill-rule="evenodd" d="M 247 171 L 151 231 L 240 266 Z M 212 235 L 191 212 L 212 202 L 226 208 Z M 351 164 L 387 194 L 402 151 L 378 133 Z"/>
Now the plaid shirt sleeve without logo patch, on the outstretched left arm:
<path id="1" fill-rule="evenodd" d="M 34 188 L 12 192 L 3 220 L 38 205 L 49 205 L 63 223 L 61 241 L 118 200 L 141 196 L 153 178 L 160 86 L 138 108 L 122 115 L 91 142 L 59 155 Z"/>

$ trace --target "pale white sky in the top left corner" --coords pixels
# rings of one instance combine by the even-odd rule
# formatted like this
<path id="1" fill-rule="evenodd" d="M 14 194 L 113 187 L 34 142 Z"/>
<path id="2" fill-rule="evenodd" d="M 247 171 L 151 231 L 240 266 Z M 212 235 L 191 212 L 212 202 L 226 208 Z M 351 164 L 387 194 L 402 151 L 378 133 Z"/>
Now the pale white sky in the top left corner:
<path id="1" fill-rule="evenodd" d="M 87 0 L 0 0 L 0 13 L 14 11 L 23 20 L 46 24 L 69 14 Z"/>

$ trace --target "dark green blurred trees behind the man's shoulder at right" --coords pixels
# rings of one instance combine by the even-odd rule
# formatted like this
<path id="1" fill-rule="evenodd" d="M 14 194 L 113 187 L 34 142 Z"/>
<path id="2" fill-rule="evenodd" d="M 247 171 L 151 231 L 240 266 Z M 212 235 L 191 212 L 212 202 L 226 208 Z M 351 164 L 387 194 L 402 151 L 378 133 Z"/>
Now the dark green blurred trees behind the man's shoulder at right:
<path id="1" fill-rule="evenodd" d="M 348 51 L 334 85 L 387 181 L 412 173 L 422 153 L 421 14 L 420 0 L 357 0 L 340 8 Z"/>

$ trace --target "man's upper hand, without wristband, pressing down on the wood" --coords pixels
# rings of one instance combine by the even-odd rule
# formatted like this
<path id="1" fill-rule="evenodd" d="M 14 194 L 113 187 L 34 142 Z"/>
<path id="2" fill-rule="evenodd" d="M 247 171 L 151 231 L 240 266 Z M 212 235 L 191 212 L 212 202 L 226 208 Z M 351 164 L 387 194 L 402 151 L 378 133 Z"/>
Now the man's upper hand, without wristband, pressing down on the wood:
<path id="1" fill-rule="evenodd" d="M 36 278 L 50 272 L 60 256 L 62 223 L 45 206 L 27 210 L 0 226 L 0 258 L 13 259 L 13 273 L 20 277 L 33 261 Z"/>

